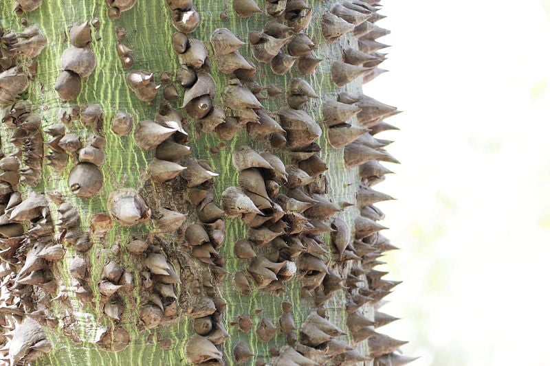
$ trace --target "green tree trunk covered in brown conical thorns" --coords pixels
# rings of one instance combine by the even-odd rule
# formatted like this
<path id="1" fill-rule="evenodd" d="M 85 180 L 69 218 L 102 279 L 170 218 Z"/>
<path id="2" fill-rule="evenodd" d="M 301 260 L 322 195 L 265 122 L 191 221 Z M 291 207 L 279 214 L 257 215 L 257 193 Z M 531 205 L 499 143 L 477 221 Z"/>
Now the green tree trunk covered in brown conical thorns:
<path id="1" fill-rule="evenodd" d="M 378 1 L 257 5 L 0 5 L 5 365 L 411 361 L 374 330 Z"/>

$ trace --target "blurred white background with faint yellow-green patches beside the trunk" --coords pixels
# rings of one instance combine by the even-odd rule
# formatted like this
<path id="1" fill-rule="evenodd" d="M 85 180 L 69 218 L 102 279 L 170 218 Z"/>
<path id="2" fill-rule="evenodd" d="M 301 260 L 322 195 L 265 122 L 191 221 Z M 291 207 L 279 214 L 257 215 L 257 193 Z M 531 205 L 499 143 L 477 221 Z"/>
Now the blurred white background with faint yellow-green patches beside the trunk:
<path id="1" fill-rule="evenodd" d="M 386 0 L 392 34 L 367 95 L 405 113 L 401 161 L 375 188 L 388 279 L 384 333 L 415 366 L 550 365 L 550 0 Z"/>

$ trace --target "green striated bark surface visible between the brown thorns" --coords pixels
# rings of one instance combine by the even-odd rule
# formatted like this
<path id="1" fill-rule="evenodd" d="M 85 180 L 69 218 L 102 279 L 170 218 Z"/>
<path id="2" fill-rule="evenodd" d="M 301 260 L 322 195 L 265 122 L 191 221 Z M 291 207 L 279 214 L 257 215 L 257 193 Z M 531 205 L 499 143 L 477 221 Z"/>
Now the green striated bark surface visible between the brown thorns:
<path id="1" fill-rule="evenodd" d="M 9 2 L 9 1 L 8 1 Z M 264 7 L 263 0 L 259 0 L 259 6 Z M 11 4 L 8 4 L 11 5 Z M 223 106 L 221 92 L 228 85 L 229 76 L 221 73 L 217 68 L 216 62 L 212 57 L 212 49 L 208 45 L 210 34 L 219 27 L 227 27 L 233 34 L 241 40 L 248 41 L 248 33 L 251 31 L 261 31 L 263 25 L 271 19 L 267 14 L 255 14 L 247 19 L 243 19 L 232 11 L 232 1 L 202 1 L 195 0 L 195 8 L 201 16 L 201 23 L 195 32 L 190 34 L 190 38 L 197 38 L 203 41 L 208 48 L 210 58 L 210 69 L 208 72 L 217 83 L 217 93 L 212 98 L 215 106 Z M 10 6 L 0 5 L 1 25 L 19 32 L 23 30 L 21 17 L 16 16 Z M 358 40 L 351 34 L 342 36 L 338 41 L 325 41 L 322 36 L 320 22 L 322 15 L 329 4 L 320 1 L 309 1 L 309 6 L 313 8 L 313 19 L 305 32 L 317 45 L 314 52 L 316 56 L 322 58 L 316 72 L 311 76 L 303 76 L 296 67 L 285 76 L 276 76 L 272 73 L 268 63 L 256 62 L 252 58 L 250 43 L 240 49 L 243 56 L 248 56 L 258 69 L 256 81 L 259 84 L 276 84 L 281 89 L 286 90 L 289 80 L 293 77 L 305 78 L 311 87 L 322 96 L 322 99 L 311 100 L 307 106 L 307 113 L 322 126 L 323 133 L 317 143 L 322 150 L 320 157 L 327 163 L 327 172 L 325 176 L 329 183 L 329 189 L 326 195 L 331 202 L 336 205 L 344 203 L 355 203 L 358 182 L 360 181 L 359 168 L 344 167 L 344 149 L 333 148 L 327 140 L 327 128 L 321 124 L 322 100 L 337 99 L 338 92 L 349 91 L 357 94 L 362 88 L 362 80 L 356 79 L 338 88 L 331 80 L 331 64 L 334 60 L 342 58 L 342 47 L 358 48 Z M 126 39 L 124 44 L 132 51 L 131 54 L 135 60 L 131 70 L 151 71 L 155 75 L 155 81 L 160 82 L 159 77 L 162 72 L 168 72 L 171 79 L 175 79 L 175 73 L 179 69 L 177 54 L 173 51 L 171 36 L 175 31 L 170 23 L 170 10 L 164 1 L 145 1 L 137 0 L 135 6 L 126 12 L 122 12 L 120 19 L 113 21 L 107 16 L 107 5 L 104 1 L 87 0 L 45 0 L 43 4 L 32 12 L 23 14 L 23 18 L 28 19 L 29 24 L 38 24 L 47 37 L 47 47 L 36 58 L 39 68 L 36 76 L 32 78 L 28 91 L 23 98 L 28 98 L 34 106 L 34 112 L 41 116 L 42 128 L 47 128 L 52 124 L 58 123 L 58 115 L 61 110 L 78 104 L 98 103 L 102 106 L 104 124 L 104 137 L 107 144 L 104 148 L 106 152 L 106 161 L 102 166 L 104 176 L 103 190 L 101 194 L 93 198 L 78 198 L 70 191 L 67 178 L 69 171 L 74 166 L 74 159 L 69 162 L 63 172 L 57 172 L 47 165 L 43 165 L 43 179 L 32 188 L 35 192 L 60 192 L 65 201 L 71 201 L 78 208 L 80 213 L 81 226 L 83 230 L 88 231 L 91 225 L 92 214 L 107 213 L 107 198 L 115 190 L 124 187 L 131 187 L 140 190 L 142 196 L 146 199 L 148 205 L 155 212 L 160 207 L 166 207 L 174 211 L 179 211 L 188 215 L 182 229 L 174 234 L 161 234 L 156 236 L 155 242 L 162 240 L 164 251 L 168 260 L 172 262 L 178 273 L 184 279 L 181 285 L 177 286 L 176 293 L 179 295 L 177 305 L 179 319 L 166 321 L 164 326 L 144 330 L 139 321 L 140 307 L 143 305 L 142 296 L 144 291 L 143 284 L 140 282 L 140 259 L 129 255 L 124 250 L 124 245 L 135 238 L 135 236 L 146 235 L 153 231 L 154 225 L 142 224 L 133 227 L 122 227 L 117 222 L 103 236 L 91 233 L 91 240 L 94 246 L 87 252 L 86 256 L 90 263 L 89 284 L 98 284 L 101 281 L 102 266 L 107 260 L 116 259 L 128 271 L 133 271 L 135 278 L 135 290 L 133 293 L 122 296 L 124 301 L 124 314 L 121 321 L 115 322 L 102 314 L 100 307 L 101 297 L 97 286 L 90 286 L 94 290 L 94 306 L 81 303 L 74 297 L 70 290 L 67 292 L 68 299 L 52 301 L 52 309 L 56 316 L 64 319 L 67 312 L 74 316 L 72 327 L 80 343 L 75 342 L 75 337 L 63 334 L 60 327 L 46 328 L 48 336 L 52 340 L 54 349 L 46 354 L 36 365 L 188 365 L 184 355 L 184 345 L 189 337 L 194 333 L 192 330 L 192 321 L 186 317 L 186 312 L 192 302 L 195 294 L 192 293 L 192 280 L 198 278 L 203 271 L 209 271 L 208 267 L 200 264 L 192 258 L 190 249 L 183 240 L 184 227 L 190 223 L 197 222 L 195 207 L 191 207 L 186 198 L 188 190 L 185 188 L 185 181 L 181 177 L 168 181 L 166 183 L 153 183 L 146 176 L 146 167 L 153 160 L 154 149 L 149 151 L 142 150 L 135 143 L 132 133 L 127 137 L 119 137 L 111 132 L 111 119 L 118 111 L 126 111 L 133 115 L 135 124 L 133 131 L 137 128 L 137 122 L 144 119 L 153 119 L 155 113 L 162 103 L 161 92 L 152 102 L 141 102 L 135 96 L 135 93 L 129 89 L 126 83 L 126 73 L 122 67 L 122 62 L 115 51 L 115 30 L 124 28 Z M 220 19 L 220 14 L 226 12 L 228 18 Z M 73 23 L 91 21 L 98 19 L 100 27 L 92 32 L 94 40 L 91 43 L 91 49 L 97 58 L 97 67 L 94 73 L 84 79 L 83 89 L 76 100 L 62 102 L 54 91 L 56 78 L 60 73 L 61 54 L 69 47 L 67 41 L 68 27 Z M 179 101 L 173 103 L 173 106 L 185 115 L 181 106 L 180 91 Z M 272 98 L 262 101 L 265 109 L 270 112 L 276 112 L 278 108 L 286 105 L 285 95 L 278 98 Z M 354 119 L 355 121 L 355 119 Z M 195 123 L 189 119 L 185 125 L 189 133 L 189 142 L 192 157 L 207 161 L 214 172 L 219 176 L 212 179 L 214 183 L 215 202 L 220 203 L 221 193 L 230 186 L 239 185 L 239 172 L 232 165 L 232 155 L 241 146 L 251 146 L 255 150 L 270 150 L 267 141 L 254 141 L 248 137 L 246 128 L 241 128 L 236 135 L 229 141 L 222 141 L 215 133 L 199 133 L 195 128 Z M 353 122 L 356 123 L 356 122 Z M 67 126 L 67 131 L 76 133 L 82 141 L 85 141 L 93 134 L 89 127 L 85 127 L 79 122 L 73 122 Z M 14 147 L 7 143 L 12 131 L 10 128 L 2 126 L 1 137 L 3 141 L 2 150 L 5 155 L 14 152 Z M 276 154 L 285 161 L 292 163 L 285 151 L 276 151 Z M 30 187 L 19 185 L 20 191 L 30 190 Z M 50 213 L 53 222 L 56 222 L 56 205 L 50 203 Z M 336 216 L 348 222 L 353 227 L 353 220 L 360 215 L 357 206 L 347 207 Z M 330 222 L 330 221 L 329 221 Z M 252 353 L 255 355 L 248 364 L 253 364 L 257 358 L 263 358 L 265 361 L 270 359 L 270 348 L 280 348 L 285 344 L 284 334 L 278 333 L 274 339 L 269 342 L 261 341 L 255 333 L 256 325 L 262 317 L 271 319 L 274 324 L 278 317 L 283 314 L 281 304 L 288 301 L 294 305 L 292 316 L 296 323 L 296 328 L 305 321 L 309 312 L 316 308 L 314 301 L 309 298 L 303 298 L 302 284 L 298 277 L 294 277 L 287 283 L 287 290 L 283 295 L 276 296 L 269 290 L 260 290 L 255 288 L 254 282 L 251 284 L 254 288 L 252 295 L 241 295 L 236 291 L 232 281 L 232 275 L 236 271 L 246 271 L 247 262 L 239 260 L 234 255 L 234 242 L 241 238 L 246 238 L 248 227 L 239 218 L 225 219 L 225 240 L 221 247 L 220 254 L 225 258 L 225 275 L 223 281 L 214 288 L 214 293 L 219 294 L 227 302 L 227 310 L 223 314 L 223 322 L 230 336 L 220 346 L 225 362 L 228 365 L 234 364 L 232 350 L 239 342 L 246 343 Z M 59 228 L 56 228 L 59 232 Z M 151 236 L 151 240 L 153 237 Z M 323 242 L 326 248 L 330 250 L 330 236 L 325 234 Z M 113 251 L 113 247 L 120 247 L 120 253 Z M 69 273 L 69 258 L 74 256 L 74 249 L 67 248 L 65 260 L 55 264 L 53 272 L 60 286 L 72 286 L 72 277 Z M 338 263 L 335 258 L 325 258 L 329 267 L 336 273 L 346 276 L 350 262 Z M 365 281 L 366 282 L 366 281 Z M 346 312 L 346 293 L 341 290 L 333 295 L 325 304 L 327 310 L 327 319 L 342 330 L 347 332 L 347 312 Z M 261 310 L 261 313 L 258 311 Z M 362 312 L 367 317 L 373 317 L 373 306 L 363 306 Z M 245 334 L 239 332 L 238 327 L 230 325 L 241 314 L 250 314 L 254 323 L 252 331 Z M 63 325 L 63 321 L 60 321 Z M 119 352 L 106 352 L 94 343 L 96 329 L 101 326 L 113 327 L 122 326 L 129 332 L 131 341 L 127 347 Z M 297 332 L 297 330 L 296 330 Z M 349 333 L 349 332 L 348 332 Z M 153 341 L 151 334 L 161 334 L 162 339 L 170 339 L 171 344 Z M 350 335 L 339 336 L 338 339 L 353 344 Z M 168 348 L 168 349 L 166 349 Z M 355 349 L 368 354 L 369 350 L 366 341 L 355 345 Z M 338 364 L 338 363 L 337 363 Z"/>

